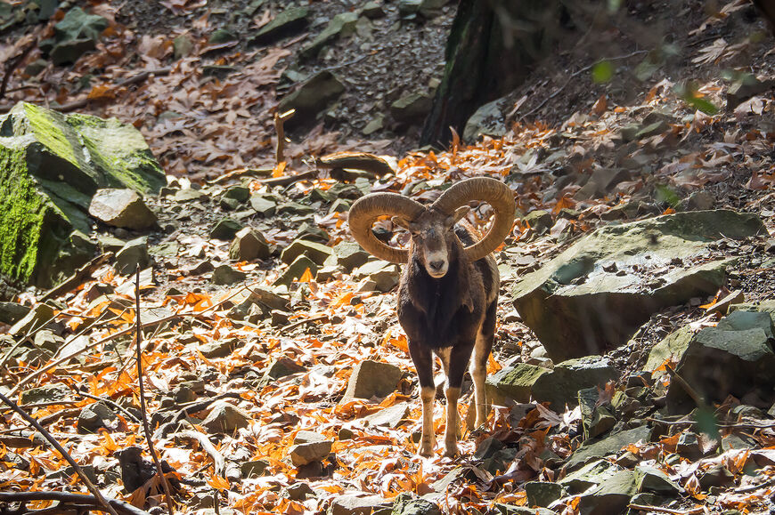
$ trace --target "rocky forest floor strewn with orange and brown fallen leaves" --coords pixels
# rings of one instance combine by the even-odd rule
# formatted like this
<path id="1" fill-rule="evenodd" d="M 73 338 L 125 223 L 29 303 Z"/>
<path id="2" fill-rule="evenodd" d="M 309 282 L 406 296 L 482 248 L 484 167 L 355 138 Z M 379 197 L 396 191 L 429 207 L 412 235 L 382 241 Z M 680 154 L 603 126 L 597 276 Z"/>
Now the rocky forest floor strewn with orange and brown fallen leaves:
<path id="1" fill-rule="evenodd" d="M 551 223 L 539 231 L 518 221 L 505 247 L 496 253 L 508 270 L 504 269 L 502 281 L 491 373 L 516 361 L 553 365 L 514 310 L 511 286 L 614 219 L 625 205 L 643 207 L 628 220 L 674 213 L 692 203 L 757 213 L 775 234 L 775 98 L 771 87 L 756 86 L 755 93 L 739 99 L 730 91 L 752 77 L 760 85 L 775 78 L 775 39 L 746 2 L 719 4 L 714 11 L 698 1 L 681 3 L 677 10 L 670 2 L 633 3 L 632 12 L 617 19 L 619 25 L 614 23 L 616 29 L 600 31 L 600 38 L 593 37 L 591 29 L 587 39 L 593 42 L 560 52 L 503 100 L 505 134 L 471 144 L 455 141 L 441 151 L 410 151 L 420 127 L 391 122 L 389 104 L 407 93 L 427 93 L 428 84 L 441 77 L 452 5 L 429 20 L 402 21 L 397 3 L 385 2 L 384 17 L 371 20 L 368 27 L 363 22 L 353 36 L 329 44 L 319 58 L 298 61 L 300 47 L 322 30 L 326 20 L 355 10 L 358 3 L 314 2 L 310 27 L 270 46 L 249 45 L 247 40 L 276 15 L 281 3 L 159 4 L 163 7 L 134 0 L 90 3 L 92 12 L 110 20 L 97 51 L 73 65 L 48 64 L 37 76 L 12 75 L 3 101 L 35 101 L 53 109 L 79 102 L 80 112 L 133 123 L 165 171 L 175 176 L 170 177 L 171 186 L 184 190 L 192 182 L 204 194 L 188 200 L 174 195 L 147 199 L 164 230 L 148 235 L 154 266 L 143 273 L 141 314 L 149 321 L 183 318 L 151 322 L 145 334 L 143 364 L 151 423 L 177 421 L 183 402 L 196 400 L 192 406 L 198 406 L 192 408 L 188 418 L 192 423 L 184 431 L 157 434 L 162 457 L 185 479 L 176 493 L 181 511 L 213 512 L 215 503 L 216 513 L 368 513 L 384 510 L 397 495 L 412 492 L 433 499 L 443 512 L 508 513 L 502 506 L 527 504 L 526 481 L 562 479 L 561 460 L 583 440 L 578 408 L 497 406 L 484 428 L 464 430 L 461 458 L 443 458 L 440 452 L 434 458 L 417 456 L 420 401 L 406 339 L 397 324 L 395 291 L 363 289 L 368 278 L 347 271 L 325 280 L 305 274 L 281 292 L 283 309 L 238 318 L 237 300 L 245 300 L 249 288 L 269 289 L 286 266 L 276 256 L 235 264 L 229 259 L 230 242 L 210 237 L 217 221 L 232 217 L 259 229 L 279 248 L 298 237 L 303 221 L 311 222 L 318 237 L 320 229 L 325 231 L 322 238 L 328 245 L 352 241 L 346 216 L 329 213 L 327 202 L 314 200 L 320 192 L 334 190 L 346 197 L 352 191 L 342 193 L 339 182 L 325 172 L 274 189 L 260 180 L 208 180 L 244 168 L 301 173 L 314 170 L 311 158 L 339 150 L 387 155 L 396 173 L 371 187 L 407 190 L 424 202 L 445 181 L 482 173 L 502 178 L 515 192 L 520 215 L 545 210 Z M 14 45 L 23 45 L 22 34 L 46 36 L 52 24 L 12 29 L 6 36 L 6 56 L 12 55 Z M 234 39 L 208 43 L 219 28 L 227 28 Z M 177 58 L 173 41 L 182 35 L 189 36 L 192 49 Z M 25 63 L 39 57 L 33 50 Z M 224 68 L 212 71 L 208 68 L 212 66 L 233 69 L 224 74 Z M 346 92 L 319 124 L 290 133 L 288 164 L 278 170 L 273 112 L 295 82 L 292 77 L 323 68 L 342 77 Z M 143 71 L 162 69 L 143 81 L 121 84 Z M 297 75 L 290 74 L 289 79 L 289 70 Z M 364 127 L 378 114 L 387 122 L 364 135 Z M 628 132 L 632 136 L 623 136 Z M 603 169 L 624 170 L 626 177 L 598 194 L 579 195 L 584 183 L 578 179 L 590 180 Z M 220 200 L 237 184 L 253 195 L 273 195 L 278 205 L 289 208 L 267 218 L 250 212 L 248 206 L 235 212 Z M 356 183 L 362 186 L 363 182 Z M 96 230 L 121 240 L 139 236 L 104 227 Z M 311 234 L 309 227 L 305 230 Z M 746 302 L 775 298 L 772 237 L 743 243 L 725 240 L 719 250 L 738 258 L 721 296 L 739 290 Z M 224 263 L 245 274 L 244 285 L 212 282 L 213 268 Z M 69 343 L 77 340 L 76 335 L 86 335 L 88 346 L 77 358 L 55 367 L 6 364 L 7 357 L 2 358 L 0 389 L 56 390 L 61 397 L 24 407 L 45 423 L 78 463 L 89 466 L 106 496 L 159 511 L 164 501 L 158 485 L 127 493 L 118 458 L 123 448 L 145 445 L 141 424 L 135 420 L 139 405 L 133 348 L 128 337 L 118 334 L 131 329 L 135 320 L 133 280 L 106 266 L 75 291 L 54 299 L 59 333 Z M 37 292 L 29 291 L 20 302 L 34 304 L 38 298 Z M 601 398 L 624 390 L 628 376 L 641 369 L 649 350 L 666 334 L 687 324 L 695 329 L 713 326 L 718 320 L 715 301 L 711 295 L 657 312 L 637 341 L 610 350 L 608 358 L 620 376 L 600 392 Z M 3 329 L 7 332 L 10 327 Z M 36 339 L 34 334 L 24 336 L 21 340 Z M 8 335 L 0 349 L 14 342 Z M 367 359 L 401 370 L 396 390 L 383 398 L 341 402 L 355 366 Z M 265 374 L 276 370 L 278 362 L 295 372 Z M 36 369 L 47 371 L 29 376 Z M 467 382 L 463 420 L 470 396 Z M 115 416 L 105 429 L 81 434 L 77 431 L 81 414 L 95 397 L 107 399 Z M 239 406 L 235 416 L 244 415 L 246 423 L 230 434 L 208 438 L 211 429 L 205 421 L 210 411 L 216 411 L 211 404 L 217 400 Z M 731 416 L 740 405 L 738 399 L 730 399 L 716 407 Z M 372 415 L 388 409 L 395 420 L 375 422 Z M 656 404 L 645 406 L 642 417 L 626 423 L 643 424 L 656 410 Z M 443 401 L 437 399 L 439 439 L 442 414 Z M 686 425 L 668 428 L 655 441 L 629 442 L 628 452 L 640 463 L 661 468 L 681 487 L 680 495 L 660 500 L 655 512 L 770 510 L 775 458 L 764 451 L 775 445 L 775 430 L 770 412 L 757 421 L 755 426 L 731 421 L 724 429 L 725 437 L 742 435 L 755 442 L 759 454 L 719 451 L 728 475 L 726 482 L 714 485 L 698 478 L 720 464 L 714 454 L 718 442 L 713 447 L 704 440 L 707 454 L 702 458 L 681 458 L 679 463 L 668 459 Z M 33 437 L 18 416 L 4 411 L 0 431 L 0 490 L 86 492 L 61 455 Z M 310 466 L 292 463 L 290 451 L 298 443 L 299 431 L 314 431 L 331 441 L 332 454 Z M 31 440 L 20 441 L 18 436 Z M 514 460 L 501 469 L 487 470 L 475 457 L 482 442 L 491 438 L 518 449 Z M 753 472 L 755 458 L 759 468 Z M 368 495 L 371 504 L 364 505 L 369 511 L 346 511 L 338 500 L 347 495 Z M 553 510 L 578 513 L 579 498 L 568 495 Z M 45 502 L 30 505 L 45 506 Z"/>

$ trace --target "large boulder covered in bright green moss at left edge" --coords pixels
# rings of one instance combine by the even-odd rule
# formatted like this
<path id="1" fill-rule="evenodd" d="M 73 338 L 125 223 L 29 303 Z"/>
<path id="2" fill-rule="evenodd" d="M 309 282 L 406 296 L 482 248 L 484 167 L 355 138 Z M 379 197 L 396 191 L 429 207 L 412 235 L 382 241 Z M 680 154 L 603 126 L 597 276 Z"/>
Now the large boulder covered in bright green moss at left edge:
<path id="1" fill-rule="evenodd" d="M 132 125 L 16 104 L 0 117 L 0 282 L 47 287 L 66 277 L 96 250 L 86 235 L 97 189 L 164 183 Z"/>

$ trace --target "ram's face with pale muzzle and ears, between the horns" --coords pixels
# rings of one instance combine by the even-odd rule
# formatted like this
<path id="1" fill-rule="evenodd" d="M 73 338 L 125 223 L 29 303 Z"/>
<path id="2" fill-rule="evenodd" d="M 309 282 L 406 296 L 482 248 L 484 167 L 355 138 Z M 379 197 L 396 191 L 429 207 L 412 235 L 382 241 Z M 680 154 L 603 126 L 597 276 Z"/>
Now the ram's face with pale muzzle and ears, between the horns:
<path id="1" fill-rule="evenodd" d="M 460 245 L 454 225 L 468 212 L 468 207 L 461 207 L 451 215 L 428 209 L 413 221 L 394 219 L 409 230 L 412 235 L 410 252 L 420 259 L 430 277 L 443 278 L 449 270 L 450 254 L 455 245 Z"/>

